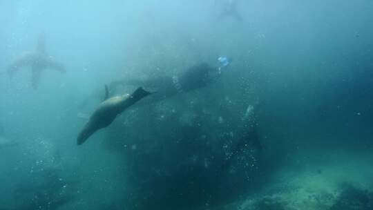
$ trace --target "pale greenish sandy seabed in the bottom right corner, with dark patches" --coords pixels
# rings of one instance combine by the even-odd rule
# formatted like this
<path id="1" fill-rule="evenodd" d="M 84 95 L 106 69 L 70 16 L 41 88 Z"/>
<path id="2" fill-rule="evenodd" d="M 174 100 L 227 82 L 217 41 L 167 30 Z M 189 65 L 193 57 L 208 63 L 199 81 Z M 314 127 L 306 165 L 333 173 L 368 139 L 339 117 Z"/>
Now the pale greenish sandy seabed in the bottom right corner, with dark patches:
<path id="1" fill-rule="evenodd" d="M 260 192 L 224 210 L 373 209 L 373 157 L 333 153 L 323 164 L 278 171 Z"/>

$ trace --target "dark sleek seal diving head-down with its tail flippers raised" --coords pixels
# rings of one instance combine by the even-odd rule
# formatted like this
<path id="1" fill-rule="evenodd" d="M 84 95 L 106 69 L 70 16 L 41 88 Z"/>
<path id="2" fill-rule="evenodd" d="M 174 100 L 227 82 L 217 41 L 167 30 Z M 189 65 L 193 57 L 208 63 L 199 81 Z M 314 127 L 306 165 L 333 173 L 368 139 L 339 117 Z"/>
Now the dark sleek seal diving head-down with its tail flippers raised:
<path id="1" fill-rule="evenodd" d="M 104 102 L 99 104 L 95 112 L 89 117 L 88 122 L 77 137 L 77 144 L 86 142 L 90 135 L 102 128 L 110 125 L 117 115 L 122 113 L 126 108 L 132 106 L 140 99 L 150 95 L 151 93 L 143 88 L 137 88 L 131 95 L 121 95 L 115 97 L 108 97 L 108 88 L 105 86 L 106 94 Z"/>

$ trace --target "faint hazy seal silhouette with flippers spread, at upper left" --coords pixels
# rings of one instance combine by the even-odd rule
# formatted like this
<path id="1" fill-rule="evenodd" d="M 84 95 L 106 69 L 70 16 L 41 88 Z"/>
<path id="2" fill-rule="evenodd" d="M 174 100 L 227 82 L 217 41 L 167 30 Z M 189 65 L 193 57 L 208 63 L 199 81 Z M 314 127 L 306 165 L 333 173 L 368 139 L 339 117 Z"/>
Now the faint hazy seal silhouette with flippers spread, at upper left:
<path id="1" fill-rule="evenodd" d="M 37 48 L 33 52 L 23 53 L 8 67 L 8 75 L 12 78 L 21 68 L 30 67 L 32 70 L 32 88 L 39 86 L 41 73 L 48 68 L 66 73 L 65 66 L 51 57 L 46 51 L 46 39 L 44 35 L 39 37 Z"/>

